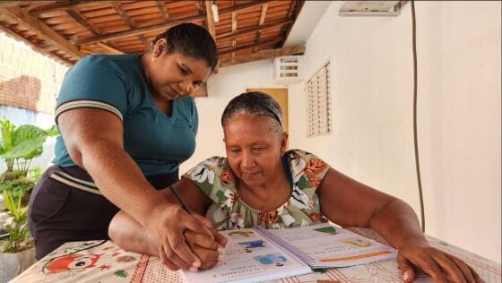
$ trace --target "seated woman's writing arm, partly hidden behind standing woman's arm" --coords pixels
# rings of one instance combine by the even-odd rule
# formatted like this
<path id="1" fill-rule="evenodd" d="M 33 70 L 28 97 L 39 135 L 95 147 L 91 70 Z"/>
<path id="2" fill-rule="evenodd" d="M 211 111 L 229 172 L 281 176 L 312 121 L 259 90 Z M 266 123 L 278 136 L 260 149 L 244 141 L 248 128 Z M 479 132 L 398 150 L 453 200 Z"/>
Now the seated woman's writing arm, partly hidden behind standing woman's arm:
<path id="1" fill-rule="evenodd" d="M 212 201 L 189 179 L 182 178 L 174 184 L 180 197 L 186 202 L 189 210 L 203 214 Z M 161 190 L 166 202 L 177 202 L 177 199 L 169 189 Z M 196 215 L 196 214 L 195 214 Z M 211 222 L 200 215 L 196 215 L 205 226 L 211 227 Z M 201 268 L 207 269 L 214 266 L 219 259 L 227 239 L 220 233 L 212 229 L 214 241 L 204 235 L 196 235 L 191 231 L 186 231 L 186 240 L 192 250 L 201 260 Z M 147 253 L 159 256 L 159 250 L 150 234 L 143 226 L 128 216 L 124 211 L 120 211 L 111 220 L 108 227 L 108 236 L 121 248 L 135 253 Z"/>

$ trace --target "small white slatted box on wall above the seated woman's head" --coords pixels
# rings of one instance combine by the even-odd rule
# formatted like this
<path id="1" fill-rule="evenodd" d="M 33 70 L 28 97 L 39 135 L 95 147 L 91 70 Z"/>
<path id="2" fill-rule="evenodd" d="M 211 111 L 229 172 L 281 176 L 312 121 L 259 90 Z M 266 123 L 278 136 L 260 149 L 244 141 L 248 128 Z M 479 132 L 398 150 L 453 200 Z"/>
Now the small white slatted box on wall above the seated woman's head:
<path id="1" fill-rule="evenodd" d="M 301 56 L 281 56 L 273 59 L 273 82 L 290 85 L 302 81 L 300 74 Z"/>

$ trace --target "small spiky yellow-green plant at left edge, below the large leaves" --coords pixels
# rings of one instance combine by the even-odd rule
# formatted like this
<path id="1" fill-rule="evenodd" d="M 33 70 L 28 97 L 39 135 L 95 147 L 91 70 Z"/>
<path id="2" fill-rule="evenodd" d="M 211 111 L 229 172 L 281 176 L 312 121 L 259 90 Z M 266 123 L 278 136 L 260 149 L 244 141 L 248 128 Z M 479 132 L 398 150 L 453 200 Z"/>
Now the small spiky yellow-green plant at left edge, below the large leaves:
<path id="1" fill-rule="evenodd" d="M 22 206 L 21 198 L 14 200 L 13 194 L 4 190 L 4 203 L 12 224 L 4 227 L 9 238 L 0 244 L 0 253 L 18 253 L 33 246 L 30 230 L 26 223 L 28 206 Z"/>

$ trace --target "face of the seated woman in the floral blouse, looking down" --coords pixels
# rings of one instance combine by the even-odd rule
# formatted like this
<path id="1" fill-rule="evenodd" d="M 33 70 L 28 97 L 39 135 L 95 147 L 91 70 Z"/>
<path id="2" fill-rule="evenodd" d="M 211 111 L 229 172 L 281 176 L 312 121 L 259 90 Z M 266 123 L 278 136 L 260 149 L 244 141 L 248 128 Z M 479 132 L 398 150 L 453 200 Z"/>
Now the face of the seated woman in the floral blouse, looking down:
<path id="1" fill-rule="evenodd" d="M 282 170 L 287 134 L 273 135 L 270 123 L 267 116 L 238 114 L 223 129 L 229 166 L 247 186 L 264 185 Z"/>

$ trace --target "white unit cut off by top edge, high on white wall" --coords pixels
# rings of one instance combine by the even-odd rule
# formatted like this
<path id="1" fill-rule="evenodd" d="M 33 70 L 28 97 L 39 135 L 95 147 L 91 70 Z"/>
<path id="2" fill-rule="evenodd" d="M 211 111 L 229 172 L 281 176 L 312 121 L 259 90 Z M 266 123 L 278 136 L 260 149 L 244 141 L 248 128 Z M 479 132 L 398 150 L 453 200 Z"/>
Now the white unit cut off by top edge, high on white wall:
<path id="1" fill-rule="evenodd" d="M 341 16 L 397 16 L 401 1 L 344 1 Z"/>

